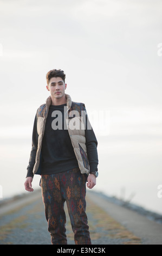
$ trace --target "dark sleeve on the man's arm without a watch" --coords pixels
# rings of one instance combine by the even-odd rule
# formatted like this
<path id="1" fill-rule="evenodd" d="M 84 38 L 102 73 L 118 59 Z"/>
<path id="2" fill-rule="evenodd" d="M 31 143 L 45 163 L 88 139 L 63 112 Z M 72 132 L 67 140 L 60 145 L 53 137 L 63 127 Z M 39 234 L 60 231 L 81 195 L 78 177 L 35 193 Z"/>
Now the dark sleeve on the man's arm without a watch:
<path id="1" fill-rule="evenodd" d="M 37 133 L 37 114 L 35 115 L 34 126 L 33 126 L 33 135 L 32 135 L 32 147 L 29 159 L 29 165 L 27 167 L 27 177 L 33 177 L 33 168 L 35 164 L 35 157 L 38 145 L 38 133 Z"/>

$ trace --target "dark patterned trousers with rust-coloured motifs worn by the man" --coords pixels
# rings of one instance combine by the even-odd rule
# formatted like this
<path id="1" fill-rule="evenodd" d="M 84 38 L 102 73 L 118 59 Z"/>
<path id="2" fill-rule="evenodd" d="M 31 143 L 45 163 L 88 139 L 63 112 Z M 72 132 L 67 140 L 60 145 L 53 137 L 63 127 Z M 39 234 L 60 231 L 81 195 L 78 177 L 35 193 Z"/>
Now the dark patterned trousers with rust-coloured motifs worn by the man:
<path id="1" fill-rule="evenodd" d="M 43 203 L 53 245 L 67 244 L 65 201 L 75 244 L 91 245 L 86 215 L 86 181 L 87 175 L 81 174 L 79 168 L 41 176 Z"/>

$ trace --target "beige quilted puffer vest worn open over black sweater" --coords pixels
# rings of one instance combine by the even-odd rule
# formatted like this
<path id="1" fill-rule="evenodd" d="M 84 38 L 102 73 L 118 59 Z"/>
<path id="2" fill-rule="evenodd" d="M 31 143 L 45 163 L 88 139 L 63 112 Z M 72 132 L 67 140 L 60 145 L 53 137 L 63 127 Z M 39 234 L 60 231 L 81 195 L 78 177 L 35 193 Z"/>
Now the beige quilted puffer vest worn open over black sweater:
<path id="1" fill-rule="evenodd" d="M 85 109 L 83 103 L 72 102 L 72 99 L 68 94 L 65 94 L 67 99 L 67 111 L 66 111 L 66 121 L 70 139 L 74 148 L 74 153 L 80 168 L 81 173 L 89 174 L 89 162 L 87 158 L 87 148 L 86 148 L 86 137 L 85 137 L 85 119 L 81 116 L 81 111 Z M 41 166 L 41 148 L 42 139 L 44 135 L 46 119 L 49 111 L 49 106 L 51 105 L 51 97 L 49 96 L 46 100 L 46 104 L 41 105 L 37 109 L 37 133 L 38 133 L 38 145 L 36 152 L 35 165 L 33 168 L 33 174 L 38 174 L 40 172 Z M 77 111 L 77 112 L 76 112 Z M 85 111 L 83 111 L 85 112 Z M 73 117 L 74 114 L 76 117 Z M 74 129 L 74 121 L 80 129 Z"/>

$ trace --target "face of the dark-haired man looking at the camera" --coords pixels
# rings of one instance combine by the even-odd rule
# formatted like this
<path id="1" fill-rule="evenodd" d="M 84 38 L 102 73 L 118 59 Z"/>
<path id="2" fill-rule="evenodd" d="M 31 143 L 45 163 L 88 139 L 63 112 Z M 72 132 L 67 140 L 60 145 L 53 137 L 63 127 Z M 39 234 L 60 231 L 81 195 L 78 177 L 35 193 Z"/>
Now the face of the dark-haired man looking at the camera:
<path id="1" fill-rule="evenodd" d="M 63 82 L 61 77 L 52 77 L 50 78 L 47 90 L 49 90 L 50 95 L 55 99 L 60 99 L 64 95 L 64 90 L 66 89 L 67 84 Z"/>

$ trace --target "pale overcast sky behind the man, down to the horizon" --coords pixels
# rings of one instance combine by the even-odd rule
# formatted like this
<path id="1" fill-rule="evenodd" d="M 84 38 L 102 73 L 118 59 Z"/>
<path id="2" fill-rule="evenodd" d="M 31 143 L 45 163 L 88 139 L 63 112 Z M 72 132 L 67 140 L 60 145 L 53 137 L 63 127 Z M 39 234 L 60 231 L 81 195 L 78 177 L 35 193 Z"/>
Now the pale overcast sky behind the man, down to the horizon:
<path id="1" fill-rule="evenodd" d="M 56 68 L 96 133 L 96 188 L 119 194 L 124 187 L 162 212 L 161 10 L 161 0 L 0 0 L 4 196 L 24 191 L 35 113 Z"/>

